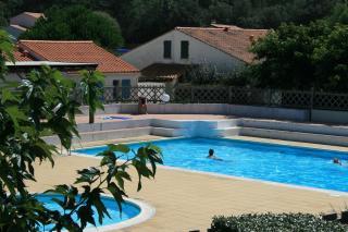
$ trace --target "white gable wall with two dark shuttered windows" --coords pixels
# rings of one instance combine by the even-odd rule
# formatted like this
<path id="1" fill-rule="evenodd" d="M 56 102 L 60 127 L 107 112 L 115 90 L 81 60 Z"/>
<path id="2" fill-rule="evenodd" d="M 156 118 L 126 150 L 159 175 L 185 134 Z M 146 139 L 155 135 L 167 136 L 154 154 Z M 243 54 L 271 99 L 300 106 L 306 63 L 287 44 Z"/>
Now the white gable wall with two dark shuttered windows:
<path id="1" fill-rule="evenodd" d="M 170 56 L 165 56 L 166 46 Z M 188 56 L 182 56 L 183 46 L 188 46 Z M 176 29 L 123 54 L 122 59 L 139 70 L 153 63 L 211 64 L 219 70 L 234 70 L 245 63 Z"/>

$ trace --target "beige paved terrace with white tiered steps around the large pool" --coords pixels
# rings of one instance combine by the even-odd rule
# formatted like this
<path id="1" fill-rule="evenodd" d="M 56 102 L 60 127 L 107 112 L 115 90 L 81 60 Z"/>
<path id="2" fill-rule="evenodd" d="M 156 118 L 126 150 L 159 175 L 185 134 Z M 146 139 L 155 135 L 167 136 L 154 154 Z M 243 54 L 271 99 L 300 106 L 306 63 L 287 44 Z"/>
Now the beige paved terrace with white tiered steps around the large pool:
<path id="1" fill-rule="evenodd" d="M 209 105 L 204 106 L 206 109 L 209 107 Z M 174 105 L 150 105 L 149 109 L 154 110 L 156 107 L 175 108 Z M 87 115 L 78 115 L 76 121 L 82 139 L 75 139 L 74 147 L 78 149 L 110 143 L 167 141 L 177 136 L 188 136 L 184 133 L 188 129 L 187 125 L 200 122 L 201 124 L 197 126 L 200 127 L 200 133 L 211 133 L 216 130 L 222 134 L 214 136 L 233 141 L 348 152 L 348 148 L 344 146 L 347 143 L 345 136 L 348 133 L 348 127 L 345 125 L 243 118 L 217 112 L 216 114 L 139 115 L 123 113 L 120 109 L 127 109 L 129 112 L 129 109 L 136 109 L 136 105 L 105 106 L 105 112 L 96 115 L 94 125 L 88 124 Z M 87 112 L 86 109 L 83 111 Z M 272 133 L 273 138 L 270 138 Z M 54 141 L 53 137 L 50 139 Z M 40 192 L 60 183 L 61 180 L 72 183 L 76 176 L 76 170 L 94 167 L 99 162 L 92 156 L 80 156 L 76 152 L 73 152 L 73 156 L 55 159 L 55 169 L 49 166 L 37 167 L 38 182 L 30 184 L 30 191 Z M 269 211 L 320 215 L 332 210 L 339 211 L 348 200 L 348 194 L 345 192 L 167 166 L 160 167 L 156 180 L 145 181 L 144 185 L 146 187 L 137 193 L 136 184 L 132 183 L 126 186 L 127 193 L 130 198 L 140 199 L 154 207 L 156 215 L 152 219 L 123 231 L 204 231 L 210 227 L 211 218 L 215 215 Z"/>

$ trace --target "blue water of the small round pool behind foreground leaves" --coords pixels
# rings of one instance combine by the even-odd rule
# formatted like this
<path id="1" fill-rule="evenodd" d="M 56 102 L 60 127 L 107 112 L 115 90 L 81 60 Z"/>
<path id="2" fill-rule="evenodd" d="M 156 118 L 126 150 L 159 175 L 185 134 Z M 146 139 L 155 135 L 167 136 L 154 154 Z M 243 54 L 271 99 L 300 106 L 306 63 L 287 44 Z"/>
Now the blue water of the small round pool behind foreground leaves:
<path id="1" fill-rule="evenodd" d="M 58 198 L 63 200 L 63 197 L 60 195 L 53 195 L 53 194 L 41 194 L 37 196 L 38 200 L 45 204 L 46 208 L 49 208 L 51 210 L 59 210 L 61 212 L 63 212 L 63 210 L 61 209 L 61 207 L 52 202 L 52 198 Z M 121 221 L 125 221 L 128 220 L 130 218 L 136 217 L 137 215 L 140 213 L 140 208 L 138 206 L 136 206 L 133 203 L 129 202 L 125 202 L 122 204 L 122 215 L 120 216 L 120 210 L 119 207 L 115 203 L 115 200 L 111 197 L 102 197 L 102 202 L 104 203 L 108 212 L 110 213 L 109 218 L 108 216 L 104 217 L 103 219 L 103 223 L 102 225 L 108 225 L 108 224 L 114 224 L 114 223 L 119 223 Z M 98 222 L 98 213 L 96 211 L 96 213 L 94 215 L 95 221 L 96 221 L 96 225 L 100 227 L 99 222 Z M 74 219 L 75 221 L 77 221 L 77 216 L 74 215 Z M 88 224 L 88 228 L 92 228 L 92 224 Z M 42 227 L 41 229 L 45 231 L 49 231 L 50 229 L 52 229 L 53 225 L 46 225 L 45 228 Z"/>

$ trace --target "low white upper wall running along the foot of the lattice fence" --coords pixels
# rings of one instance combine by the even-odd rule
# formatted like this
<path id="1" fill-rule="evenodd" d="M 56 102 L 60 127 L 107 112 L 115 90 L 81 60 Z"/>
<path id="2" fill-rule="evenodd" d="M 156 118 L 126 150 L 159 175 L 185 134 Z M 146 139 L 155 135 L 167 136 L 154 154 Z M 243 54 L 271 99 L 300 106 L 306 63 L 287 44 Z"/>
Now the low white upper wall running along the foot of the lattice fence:
<path id="1" fill-rule="evenodd" d="M 104 106 L 105 111 L 97 113 L 138 113 L 137 103 L 112 103 Z M 88 107 L 82 107 L 88 113 Z M 227 103 L 149 103 L 148 113 L 152 114 L 223 114 L 244 118 L 309 121 L 309 110 L 272 107 L 239 106 Z M 348 124 L 347 111 L 312 110 L 312 121 L 322 123 Z"/>

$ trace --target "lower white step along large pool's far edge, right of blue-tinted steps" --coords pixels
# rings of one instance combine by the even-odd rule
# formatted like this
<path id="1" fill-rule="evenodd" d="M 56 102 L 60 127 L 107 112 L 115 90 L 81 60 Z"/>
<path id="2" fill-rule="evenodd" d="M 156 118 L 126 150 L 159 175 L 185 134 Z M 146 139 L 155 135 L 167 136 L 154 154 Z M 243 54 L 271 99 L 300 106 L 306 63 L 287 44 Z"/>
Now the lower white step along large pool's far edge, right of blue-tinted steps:
<path id="1" fill-rule="evenodd" d="M 263 138 L 275 138 L 275 139 L 283 139 L 283 141 L 294 141 L 294 142 L 307 142 L 307 143 L 313 143 L 313 144 L 348 146 L 348 138 L 346 136 L 337 136 L 337 135 L 325 135 L 325 134 L 303 133 L 303 132 L 283 131 L 283 130 L 270 130 L 270 129 L 256 129 L 256 127 L 241 127 L 240 135 L 252 136 L 252 137 L 263 137 Z"/>

